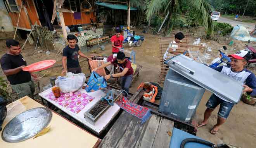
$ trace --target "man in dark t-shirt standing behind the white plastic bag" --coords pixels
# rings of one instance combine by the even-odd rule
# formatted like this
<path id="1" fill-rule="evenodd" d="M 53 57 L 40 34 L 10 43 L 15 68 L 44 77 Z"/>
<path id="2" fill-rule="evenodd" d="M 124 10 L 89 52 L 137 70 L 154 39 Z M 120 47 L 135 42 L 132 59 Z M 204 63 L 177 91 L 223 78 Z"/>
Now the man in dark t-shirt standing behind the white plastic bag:
<path id="1" fill-rule="evenodd" d="M 76 44 L 77 39 L 73 34 L 69 34 L 67 36 L 68 45 L 63 49 L 62 54 L 62 66 L 63 71 L 62 74 L 67 72 L 72 72 L 74 74 L 81 73 L 81 67 L 78 61 L 78 55 L 81 57 L 87 58 L 88 60 L 92 60 L 91 58 L 84 55 L 79 46 Z"/>

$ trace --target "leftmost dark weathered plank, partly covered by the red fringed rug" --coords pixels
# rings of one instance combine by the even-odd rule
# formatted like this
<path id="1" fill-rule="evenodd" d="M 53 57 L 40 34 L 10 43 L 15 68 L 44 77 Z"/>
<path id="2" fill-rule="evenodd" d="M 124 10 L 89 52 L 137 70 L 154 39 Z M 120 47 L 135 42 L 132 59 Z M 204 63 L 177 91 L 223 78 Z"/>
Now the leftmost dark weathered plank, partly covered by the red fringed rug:
<path id="1" fill-rule="evenodd" d="M 139 99 L 143 96 L 145 91 L 142 88 L 138 89 L 138 91 L 134 94 L 134 97 L 130 99 L 131 102 L 137 103 Z M 118 144 L 119 139 L 121 139 L 126 132 L 126 128 L 129 126 L 133 115 L 122 112 L 118 120 L 111 127 L 107 135 L 102 139 L 99 148 L 115 148 Z"/>

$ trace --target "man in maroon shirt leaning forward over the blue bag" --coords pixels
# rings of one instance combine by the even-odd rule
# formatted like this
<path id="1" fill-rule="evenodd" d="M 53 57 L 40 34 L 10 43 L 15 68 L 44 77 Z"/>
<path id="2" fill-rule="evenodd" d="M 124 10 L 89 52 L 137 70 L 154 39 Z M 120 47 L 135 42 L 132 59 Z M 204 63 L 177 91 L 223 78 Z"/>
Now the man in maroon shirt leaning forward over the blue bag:
<path id="1" fill-rule="evenodd" d="M 102 69 L 111 64 L 117 64 L 120 71 L 117 74 L 109 74 L 105 76 L 105 79 L 109 79 L 110 77 L 121 77 L 121 85 L 122 89 L 124 89 L 127 93 L 129 93 L 129 88 L 131 85 L 131 80 L 133 76 L 133 68 L 131 67 L 131 61 L 125 58 L 125 53 L 118 52 L 116 58 L 110 60 L 109 62 L 100 65 L 99 67 L 93 69 L 92 71 L 97 71 L 98 69 Z M 125 96 L 126 93 L 124 94 Z"/>

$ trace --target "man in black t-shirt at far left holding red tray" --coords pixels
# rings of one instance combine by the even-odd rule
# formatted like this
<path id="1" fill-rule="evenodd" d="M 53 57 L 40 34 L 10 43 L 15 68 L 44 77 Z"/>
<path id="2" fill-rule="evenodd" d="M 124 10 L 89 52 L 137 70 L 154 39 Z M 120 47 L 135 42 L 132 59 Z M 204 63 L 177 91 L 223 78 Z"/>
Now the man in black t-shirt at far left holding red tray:
<path id="1" fill-rule="evenodd" d="M 3 73 L 7 76 L 12 89 L 16 91 L 19 98 L 27 95 L 33 98 L 35 84 L 31 80 L 30 73 L 22 71 L 22 68 L 27 65 L 27 62 L 21 55 L 21 46 L 19 45 L 19 42 L 16 40 L 7 40 L 6 46 L 8 51 L 0 59 Z"/>

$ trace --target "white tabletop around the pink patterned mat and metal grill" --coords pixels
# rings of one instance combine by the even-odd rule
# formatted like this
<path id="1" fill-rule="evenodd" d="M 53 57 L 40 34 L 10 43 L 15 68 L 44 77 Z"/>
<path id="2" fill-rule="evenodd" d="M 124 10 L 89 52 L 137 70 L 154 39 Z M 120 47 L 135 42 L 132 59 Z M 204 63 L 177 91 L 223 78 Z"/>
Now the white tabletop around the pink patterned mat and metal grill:
<path id="1" fill-rule="evenodd" d="M 58 103 L 54 102 L 53 100 L 50 100 L 47 97 L 47 94 L 52 92 L 52 88 L 49 88 L 49 89 L 43 91 L 42 93 L 39 93 L 39 96 L 41 96 L 44 100 L 46 100 L 47 102 L 51 103 L 55 107 L 57 107 L 60 110 L 62 110 L 63 112 L 65 112 L 67 115 L 76 119 L 78 122 L 80 122 L 81 124 L 86 126 L 88 128 L 88 130 L 91 131 L 92 133 L 96 134 L 97 136 L 101 136 L 101 133 L 106 129 L 106 127 L 109 125 L 109 123 L 114 119 L 116 114 L 118 114 L 120 107 L 116 103 L 114 103 L 114 106 L 109 107 L 106 110 L 106 112 L 104 112 L 104 114 L 95 122 L 95 124 L 91 124 L 85 120 L 84 113 L 90 107 L 92 107 L 98 100 L 100 100 L 101 96 L 104 96 L 105 93 L 101 90 L 94 91 L 92 93 L 87 93 L 85 91 L 85 89 L 82 89 L 82 88 L 79 89 L 78 91 L 80 91 L 81 93 L 86 93 L 92 97 L 95 97 L 95 99 L 93 99 L 92 102 L 90 102 L 88 105 L 86 105 L 86 107 L 83 108 L 78 114 L 75 114 L 74 112 L 71 112 L 70 110 L 59 105 Z"/>

